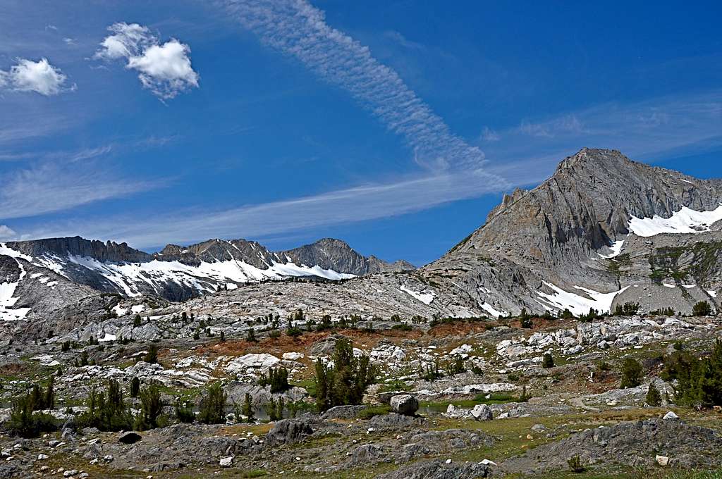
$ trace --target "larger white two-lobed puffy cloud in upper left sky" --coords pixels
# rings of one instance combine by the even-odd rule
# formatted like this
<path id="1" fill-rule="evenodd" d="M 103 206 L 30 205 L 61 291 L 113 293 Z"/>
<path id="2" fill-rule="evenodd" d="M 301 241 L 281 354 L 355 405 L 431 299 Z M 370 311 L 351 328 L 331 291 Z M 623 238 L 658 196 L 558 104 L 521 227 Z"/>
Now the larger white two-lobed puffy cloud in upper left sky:
<path id="1" fill-rule="evenodd" d="M 143 87 L 167 100 L 198 87 L 198 74 L 191 66 L 191 48 L 175 40 L 160 43 L 148 27 L 119 22 L 108 27 L 95 58 L 113 61 L 125 58 L 126 69 L 138 72 Z"/>

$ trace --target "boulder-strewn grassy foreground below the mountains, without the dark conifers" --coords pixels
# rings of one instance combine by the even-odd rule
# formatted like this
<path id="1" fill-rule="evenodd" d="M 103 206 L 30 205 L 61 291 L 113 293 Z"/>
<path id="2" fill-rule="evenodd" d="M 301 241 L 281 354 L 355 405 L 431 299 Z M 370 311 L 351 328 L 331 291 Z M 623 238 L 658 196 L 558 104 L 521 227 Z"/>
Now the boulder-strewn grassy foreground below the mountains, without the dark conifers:
<path id="1" fill-rule="evenodd" d="M 253 341 L 221 340 L 222 324 L 191 315 L 189 325 L 205 321 L 210 334 L 163 338 L 155 324 L 133 328 L 126 315 L 119 320 L 144 340 L 78 340 L 67 351 L 54 338 L 3 346 L 3 403 L 53 376 L 55 408 L 45 412 L 58 430 L 23 439 L 5 428 L 0 475 L 606 478 L 722 467 L 722 411 L 678 400 L 677 381 L 666 376 L 674 353 L 713 349 L 722 335 L 718 317 L 443 320 L 410 330 L 380 320 L 295 337 L 261 332 L 261 321 Z M 314 361 L 333 356 L 339 338 L 370 357 L 378 380 L 361 405 L 318 413 Z M 151 346 L 157 362 L 144 361 Z M 78 364 L 85 353 L 87 365 Z M 553 364 L 544 363 L 545 354 Z M 640 381 L 622 389 L 622 361 L 630 357 L 641 365 Z M 290 372 L 289 389 L 258 385 L 281 367 Z M 129 397 L 135 377 L 142 388 L 160 386 L 161 427 L 129 433 L 77 426 L 92 388 L 108 379 L 118 380 L 140 415 L 141 400 Z M 199 410 L 216 382 L 227 395 L 222 423 L 178 421 L 174 405 L 182 400 Z M 659 392 L 653 405 L 650 384 Z M 247 394 L 253 418 L 238 413 Z M 280 398 L 287 418 L 270 421 L 269 403 Z M 0 412 L 5 424 L 11 412 Z M 573 457 L 586 472 L 570 472 Z"/>

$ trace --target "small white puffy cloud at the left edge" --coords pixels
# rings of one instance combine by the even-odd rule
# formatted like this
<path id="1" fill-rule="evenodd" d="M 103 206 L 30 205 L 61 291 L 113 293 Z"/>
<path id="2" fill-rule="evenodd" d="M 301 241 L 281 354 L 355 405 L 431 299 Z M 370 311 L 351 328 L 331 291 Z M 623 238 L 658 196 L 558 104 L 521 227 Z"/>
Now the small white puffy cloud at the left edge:
<path id="1" fill-rule="evenodd" d="M 9 71 L 0 70 L 0 88 L 15 92 L 37 92 L 49 97 L 58 95 L 67 88 L 64 86 L 67 76 L 52 66 L 47 58 L 38 61 L 18 58 L 17 65 Z"/>

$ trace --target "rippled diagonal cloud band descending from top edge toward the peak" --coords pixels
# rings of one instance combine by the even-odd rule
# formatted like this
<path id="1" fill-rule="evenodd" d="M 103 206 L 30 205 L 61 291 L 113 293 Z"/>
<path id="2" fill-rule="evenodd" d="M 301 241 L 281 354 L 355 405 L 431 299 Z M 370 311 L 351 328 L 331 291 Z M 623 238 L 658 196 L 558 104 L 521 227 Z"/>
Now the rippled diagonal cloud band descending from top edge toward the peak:
<path id="1" fill-rule="evenodd" d="M 326 82 L 346 89 L 386 127 L 401 135 L 414 158 L 433 171 L 479 170 L 484 152 L 453 134 L 429 105 L 365 45 L 326 24 L 305 0 L 217 0 L 241 25 L 297 58 Z M 482 173 L 483 174 L 483 173 Z M 487 181 L 504 183 L 487 174 Z"/>

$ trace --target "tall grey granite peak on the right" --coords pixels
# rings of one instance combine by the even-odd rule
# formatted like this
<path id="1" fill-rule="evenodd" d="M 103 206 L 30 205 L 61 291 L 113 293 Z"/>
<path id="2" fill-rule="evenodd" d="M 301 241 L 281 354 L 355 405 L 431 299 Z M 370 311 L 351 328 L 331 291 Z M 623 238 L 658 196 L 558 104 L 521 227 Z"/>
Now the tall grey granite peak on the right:
<path id="1" fill-rule="evenodd" d="M 619 151 L 583 149 L 534 190 L 505 196 L 482 227 L 420 273 L 451 291 L 459 304 L 482 304 L 488 312 L 559 309 L 542 296 L 563 295 L 549 285 L 580 296 L 570 298 L 580 303 L 631 288 L 620 297 L 664 307 L 682 297 L 670 297 L 672 291 L 661 285 L 695 284 L 680 291 L 690 296 L 683 301 L 684 311 L 693 300 L 714 299 L 707 291 L 718 286 L 718 269 L 710 266 L 705 274 L 687 278 L 655 269 L 654 258 L 670 243 L 681 248 L 680 255 L 695 245 L 714 244 L 720 234 L 704 231 L 716 229 L 713 222 L 722 216 L 714 212 L 720 211 L 721 200 L 720 180 L 697 180 L 632 162 Z M 710 224 L 689 227 L 685 221 L 690 219 L 682 218 L 685 208 L 706 214 L 703 219 Z M 678 231 L 660 227 L 664 219 L 678 224 Z M 632 294 L 635 289 L 644 294 Z M 658 301 L 648 301 L 650 295 Z M 608 309 L 608 302 L 586 303 L 601 310 Z"/>

